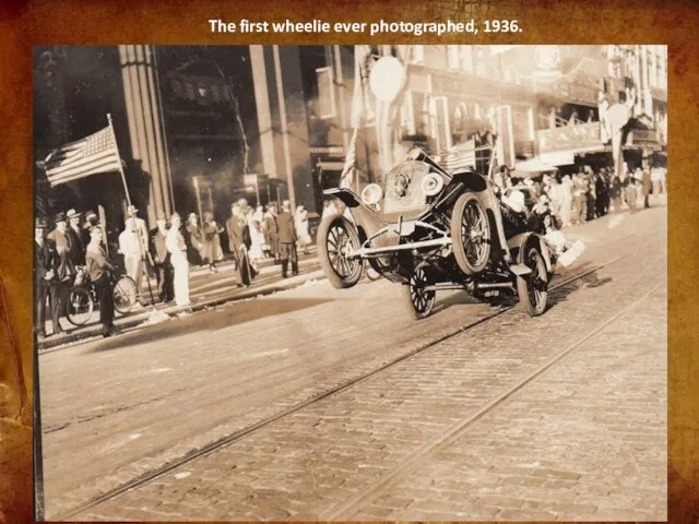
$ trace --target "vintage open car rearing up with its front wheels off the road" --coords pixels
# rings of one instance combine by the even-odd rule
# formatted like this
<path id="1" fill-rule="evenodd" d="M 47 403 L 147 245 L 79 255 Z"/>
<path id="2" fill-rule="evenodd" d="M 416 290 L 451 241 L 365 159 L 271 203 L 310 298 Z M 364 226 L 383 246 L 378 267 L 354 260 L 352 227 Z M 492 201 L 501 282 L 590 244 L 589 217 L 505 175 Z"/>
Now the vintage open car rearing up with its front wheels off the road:
<path id="1" fill-rule="evenodd" d="M 320 263 L 335 288 L 357 284 L 368 262 L 404 286 L 416 319 L 431 313 L 442 289 L 465 289 L 484 301 L 518 295 L 530 315 L 546 310 L 549 251 L 478 172 L 449 174 L 414 147 L 382 187 L 324 194 L 348 210 L 325 216 L 318 230 Z"/>

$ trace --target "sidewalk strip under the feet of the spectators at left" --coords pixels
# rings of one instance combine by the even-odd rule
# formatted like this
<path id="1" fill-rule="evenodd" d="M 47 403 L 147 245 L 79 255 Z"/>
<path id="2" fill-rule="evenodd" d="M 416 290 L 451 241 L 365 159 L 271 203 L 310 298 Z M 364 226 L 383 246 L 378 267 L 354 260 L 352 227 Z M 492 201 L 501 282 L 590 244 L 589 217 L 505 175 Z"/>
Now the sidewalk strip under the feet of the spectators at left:
<path id="1" fill-rule="evenodd" d="M 279 275 L 279 279 L 260 285 L 261 281 L 263 282 L 265 279 L 269 279 L 269 277 L 274 278 L 274 276 L 277 275 L 277 272 L 281 272 L 280 266 L 275 265 L 273 261 L 265 261 L 260 264 L 260 274 L 257 277 L 258 278 L 257 284 L 253 282 L 253 284 L 247 288 L 237 287 L 236 285 L 234 285 L 229 287 L 228 293 L 217 294 L 217 296 L 213 298 L 206 298 L 205 297 L 206 294 L 203 294 L 204 296 L 202 297 L 197 297 L 196 296 L 197 294 L 192 293 L 192 289 L 191 289 L 191 286 L 193 284 L 192 277 L 199 277 L 197 279 L 200 283 L 202 282 L 202 278 L 201 278 L 202 275 L 210 277 L 210 278 L 206 278 L 205 281 L 210 281 L 216 277 L 226 278 L 226 281 L 228 281 L 232 278 L 228 275 L 235 273 L 233 271 L 233 264 L 230 262 L 221 264 L 218 266 L 220 267 L 218 274 L 210 273 L 208 269 L 192 271 L 190 273 L 191 303 L 189 306 L 180 307 L 174 303 L 171 305 L 156 303 L 154 308 L 150 305 L 145 307 L 139 307 L 137 305 L 137 307 L 134 308 L 134 311 L 123 317 L 115 318 L 114 323 L 120 330 L 128 330 L 139 325 L 147 325 L 151 323 L 158 323 L 158 322 L 166 321 L 157 318 L 157 317 L 162 317 L 162 313 L 167 314 L 169 317 L 168 320 L 171 320 L 177 317 L 189 315 L 193 312 L 211 309 L 227 302 L 248 300 L 251 298 L 266 296 L 266 295 L 271 295 L 277 291 L 283 291 L 286 289 L 293 289 L 297 286 L 304 285 L 306 282 L 325 278 L 321 270 L 313 269 L 317 265 L 319 265 L 319 262 L 318 262 L 318 258 L 316 257 L 315 248 L 313 248 L 313 250 L 309 255 L 305 255 L 303 259 L 299 258 L 299 270 L 300 270 L 299 275 L 288 277 L 288 278 L 281 278 L 281 275 Z M 309 266 L 311 271 L 308 271 Z M 265 276 L 268 278 L 264 278 Z M 200 284 L 198 287 L 199 288 L 206 287 L 205 281 L 203 286 Z M 147 290 L 145 293 L 147 294 Z M 143 290 L 141 295 L 143 295 Z M 154 315 L 155 311 L 157 311 L 157 313 L 155 313 L 156 315 Z M 37 347 L 39 353 L 58 347 L 58 346 L 62 346 L 66 344 L 74 343 L 78 341 L 85 341 L 88 338 L 102 336 L 102 324 L 99 323 L 98 312 L 94 315 L 93 322 L 80 327 L 75 327 L 75 326 L 72 326 L 72 324 L 68 324 L 68 321 L 66 319 L 61 319 L 61 320 L 64 321 L 64 322 L 61 322 L 61 325 L 63 325 L 64 329 L 67 325 L 70 325 L 72 329 L 69 327 L 70 331 L 61 333 L 60 335 L 39 340 L 37 342 Z M 48 329 L 48 331 L 50 332 L 50 327 Z"/>

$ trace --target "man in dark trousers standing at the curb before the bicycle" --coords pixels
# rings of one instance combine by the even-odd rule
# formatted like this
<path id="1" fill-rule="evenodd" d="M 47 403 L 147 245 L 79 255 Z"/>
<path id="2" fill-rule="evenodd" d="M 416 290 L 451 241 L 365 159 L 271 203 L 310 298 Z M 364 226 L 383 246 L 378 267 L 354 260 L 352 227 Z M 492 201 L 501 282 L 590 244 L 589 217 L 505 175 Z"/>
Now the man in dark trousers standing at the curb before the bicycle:
<path id="1" fill-rule="evenodd" d="M 116 334 L 114 326 L 114 272 L 115 267 L 107 259 L 103 247 L 104 231 L 100 226 L 90 230 L 90 243 L 85 251 L 85 265 L 90 279 L 97 291 L 99 300 L 99 322 L 102 336 Z"/>

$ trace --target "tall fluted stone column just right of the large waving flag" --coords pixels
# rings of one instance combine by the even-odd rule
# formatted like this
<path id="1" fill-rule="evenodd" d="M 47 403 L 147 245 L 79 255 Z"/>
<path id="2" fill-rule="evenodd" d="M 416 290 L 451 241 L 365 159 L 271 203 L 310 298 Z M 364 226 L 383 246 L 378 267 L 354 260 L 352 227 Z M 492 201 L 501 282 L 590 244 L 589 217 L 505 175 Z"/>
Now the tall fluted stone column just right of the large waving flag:
<path id="1" fill-rule="evenodd" d="M 153 227 L 158 214 L 171 212 L 168 180 L 162 136 L 159 94 L 154 80 L 153 48 L 151 46 L 119 46 L 121 79 L 126 99 L 131 156 L 141 163 L 150 176 L 147 221 Z M 127 179 L 129 170 L 127 170 Z"/>

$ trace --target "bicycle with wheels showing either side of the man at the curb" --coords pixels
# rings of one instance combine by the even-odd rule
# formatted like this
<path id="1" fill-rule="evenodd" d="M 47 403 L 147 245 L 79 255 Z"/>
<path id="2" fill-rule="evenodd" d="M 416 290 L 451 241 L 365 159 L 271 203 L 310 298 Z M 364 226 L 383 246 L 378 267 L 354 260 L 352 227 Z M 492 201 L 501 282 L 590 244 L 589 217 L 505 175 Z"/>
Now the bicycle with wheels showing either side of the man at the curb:
<path id="1" fill-rule="evenodd" d="M 120 314 L 127 314 L 137 302 L 138 289 L 133 278 L 126 274 L 117 277 L 112 287 L 114 309 Z M 90 279 L 90 274 L 83 266 L 78 267 L 78 274 L 68 296 L 66 317 L 75 325 L 85 325 L 98 306 L 97 290 Z"/>

